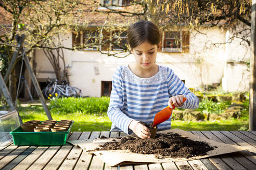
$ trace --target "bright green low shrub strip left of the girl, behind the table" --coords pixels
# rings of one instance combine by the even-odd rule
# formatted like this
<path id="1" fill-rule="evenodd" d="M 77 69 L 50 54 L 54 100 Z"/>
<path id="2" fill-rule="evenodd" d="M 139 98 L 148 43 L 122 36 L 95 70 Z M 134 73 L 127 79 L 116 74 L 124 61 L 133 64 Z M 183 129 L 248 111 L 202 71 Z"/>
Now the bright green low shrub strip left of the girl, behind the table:
<path id="1" fill-rule="evenodd" d="M 50 111 L 55 114 L 69 114 L 81 112 L 84 114 L 106 114 L 109 97 L 62 97 L 50 100 Z"/>

